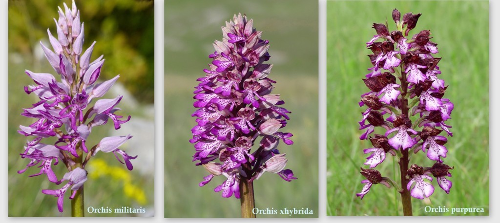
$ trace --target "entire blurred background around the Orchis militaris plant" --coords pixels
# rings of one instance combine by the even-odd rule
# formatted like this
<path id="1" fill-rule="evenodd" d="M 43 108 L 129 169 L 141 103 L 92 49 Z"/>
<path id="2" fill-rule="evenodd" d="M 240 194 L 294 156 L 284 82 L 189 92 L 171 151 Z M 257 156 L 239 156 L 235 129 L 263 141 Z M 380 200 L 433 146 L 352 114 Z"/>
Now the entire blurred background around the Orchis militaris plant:
<path id="1" fill-rule="evenodd" d="M 23 87 L 33 84 L 24 69 L 55 75 L 39 45 L 41 40 L 50 47 L 46 29 L 56 36 L 53 17 L 58 18 L 57 6 L 71 6 L 70 0 L 9 0 L 8 2 L 8 215 L 10 217 L 70 216 L 70 193 L 64 199 L 64 212 L 57 211 L 56 198 L 41 193 L 42 189 L 59 189 L 45 175 L 28 178 L 39 172 L 31 167 L 23 174 L 29 160 L 21 159 L 26 139 L 18 134 L 19 125 L 35 121 L 19 114 L 37 102 L 26 95 Z M 102 98 L 124 95 L 120 115 L 131 115 L 129 122 L 114 130 L 112 122 L 92 129 L 87 147 L 97 144 L 103 136 L 131 134 L 134 137 L 120 147 L 131 156 L 133 171 L 126 170 L 112 154 L 97 153 L 87 164 L 85 208 L 145 208 L 146 214 L 88 214 L 86 216 L 152 216 L 154 215 L 154 41 L 152 0 L 76 0 L 80 20 L 85 23 L 86 49 L 96 41 L 91 59 L 104 54 L 106 59 L 98 82 L 117 74 L 120 78 Z M 55 75 L 56 79 L 59 79 Z M 95 101 L 95 99 L 94 99 Z M 52 141 L 51 141 L 52 140 Z M 44 143 L 53 143 L 53 139 Z M 53 167 L 58 179 L 67 172 L 62 163 Z"/>

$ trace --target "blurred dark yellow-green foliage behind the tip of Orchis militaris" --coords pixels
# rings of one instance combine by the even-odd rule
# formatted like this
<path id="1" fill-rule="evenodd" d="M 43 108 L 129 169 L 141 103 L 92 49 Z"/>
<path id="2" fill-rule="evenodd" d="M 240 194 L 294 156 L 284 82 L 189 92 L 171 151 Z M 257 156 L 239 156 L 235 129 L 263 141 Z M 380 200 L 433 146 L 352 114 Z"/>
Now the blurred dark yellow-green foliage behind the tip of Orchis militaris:
<path id="1" fill-rule="evenodd" d="M 20 53 L 31 62 L 38 42 L 47 42 L 47 28 L 54 36 L 57 6 L 70 0 L 9 0 L 9 53 Z M 135 98 L 154 101 L 154 8 L 152 0 L 76 0 L 85 25 L 84 49 L 95 40 L 92 60 L 106 59 L 101 76 L 120 74 L 120 82 Z M 50 45 L 50 44 L 48 44 Z M 47 47 L 49 47 L 47 45 Z M 22 74 L 20 74 L 22 75 Z"/>

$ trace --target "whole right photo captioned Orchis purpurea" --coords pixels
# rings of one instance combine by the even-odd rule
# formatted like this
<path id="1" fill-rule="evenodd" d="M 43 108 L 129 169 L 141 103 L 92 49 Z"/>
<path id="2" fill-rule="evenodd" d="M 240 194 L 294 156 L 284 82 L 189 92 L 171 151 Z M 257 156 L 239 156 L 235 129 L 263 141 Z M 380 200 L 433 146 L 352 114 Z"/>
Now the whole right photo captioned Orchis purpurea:
<path id="1" fill-rule="evenodd" d="M 488 1 L 327 1 L 328 216 L 488 216 Z"/>

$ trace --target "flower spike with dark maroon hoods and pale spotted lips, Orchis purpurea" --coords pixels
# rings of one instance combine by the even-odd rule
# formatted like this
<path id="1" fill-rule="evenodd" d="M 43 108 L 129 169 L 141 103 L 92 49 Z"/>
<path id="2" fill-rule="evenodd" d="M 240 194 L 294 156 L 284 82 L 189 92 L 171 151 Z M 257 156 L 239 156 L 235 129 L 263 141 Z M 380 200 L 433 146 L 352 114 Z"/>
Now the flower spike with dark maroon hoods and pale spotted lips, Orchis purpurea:
<path id="1" fill-rule="evenodd" d="M 366 184 L 362 192 L 356 194 L 361 199 L 372 184 L 381 182 L 395 186 L 401 193 L 407 190 L 417 199 L 434 193 L 434 187 L 428 183 L 432 177 L 446 194 L 451 189 L 451 181 L 446 177 L 451 177 L 452 167 L 443 163 L 448 152 L 444 146 L 447 138 L 440 133 L 452 136 L 451 126 L 444 121 L 450 119 L 453 103 L 443 97 L 447 86 L 437 76 L 441 73 L 437 66 L 441 58 L 433 56 L 438 51 L 437 44 L 429 40 L 430 30 L 408 37 L 419 16 L 420 13 L 408 12 L 401 21 L 399 11 L 394 9 L 396 30 L 389 32 L 386 24 L 373 23 L 377 35 L 366 43 L 373 52 L 368 55 L 373 67 L 363 79 L 370 91 L 361 95 L 359 105 L 367 108 L 359 129 L 365 131 L 360 139 L 370 140 L 373 148 L 364 150 L 365 154 L 370 153 L 364 163 L 370 169 L 361 168 L 366 177 L 361 182 Z M 384 128 L 385 134 L 372 134 L 375 127 Z M 408 168 L 412 153 L 425 155 L 433 164 L 425 168 L 412 164 Z M 403 175 L 402 189 L 373 169 L 385 160 L 386 154 L 397 157 Z"/>

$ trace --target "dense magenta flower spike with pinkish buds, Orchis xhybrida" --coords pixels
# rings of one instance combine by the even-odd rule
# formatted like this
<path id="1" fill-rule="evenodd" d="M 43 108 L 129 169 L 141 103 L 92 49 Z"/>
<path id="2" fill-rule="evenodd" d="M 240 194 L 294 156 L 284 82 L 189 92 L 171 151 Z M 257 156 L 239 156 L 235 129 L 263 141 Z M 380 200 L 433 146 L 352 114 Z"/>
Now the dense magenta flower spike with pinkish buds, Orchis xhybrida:
<path id="1" fill-rule="evenodd" d="M 293 142 L 290 133 L 280 132 L 289 119 L 279 95 L 270 94 L 275 81 L 269 79 L 272 64 L 269 59 L 267 40 L 261 40 L 261 31 L 253 28 L 253 20 L 245 15 L 234 15 L 222 27 L 222 41 L 213 44 L 215 52 L 208 57 L 213 61 L 204 69 L 204 77 L 194 91 L 192 116 L 197 125 L 192 128 L 196 153 L 193 161 L 203 166 L 210 175 L 199 186 L 207 184 L 214 176 L 227 178 L 215 188 L 222 197 L 234 194 L 239 198 L 239 182 L 242 178 L 253 181 L 264 172 L 278 174 L 283 180 L 296 179 L 293 172 L 284 169 L 287 159 L 279 154 L 281 139 L 285 144 Z M 259 147 L 251 151 L 258 137 Z"/>

